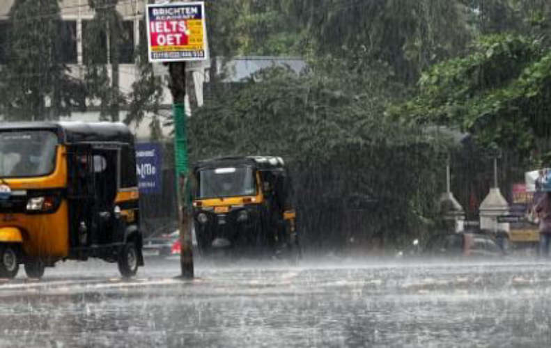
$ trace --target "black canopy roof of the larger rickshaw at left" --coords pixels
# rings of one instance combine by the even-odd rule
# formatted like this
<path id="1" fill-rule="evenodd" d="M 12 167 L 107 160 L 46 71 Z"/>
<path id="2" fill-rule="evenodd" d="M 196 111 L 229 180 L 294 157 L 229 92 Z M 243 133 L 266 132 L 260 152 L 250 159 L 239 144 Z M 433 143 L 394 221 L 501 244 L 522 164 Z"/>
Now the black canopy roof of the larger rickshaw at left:
<path id="1" fill-rule="evenodd" d="M 6 122 L 0 132 L 50 130 L 56 132 L 60 143 L 128 143 L 134 136 L 122 122 Z"/>

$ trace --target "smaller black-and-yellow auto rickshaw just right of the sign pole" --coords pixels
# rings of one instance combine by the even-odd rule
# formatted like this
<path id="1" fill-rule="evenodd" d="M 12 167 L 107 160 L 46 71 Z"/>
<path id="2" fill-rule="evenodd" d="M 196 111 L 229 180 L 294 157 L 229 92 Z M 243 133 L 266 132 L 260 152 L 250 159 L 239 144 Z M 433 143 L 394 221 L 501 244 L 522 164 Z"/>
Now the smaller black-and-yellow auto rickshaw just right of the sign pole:
<path id="1" fill-rule="evenodd" d="M 224 157 L 194 166 L 194 230 L 201 255 L 300 258 L 290 179 L 281 157 Z M 226 253 L 227 251 L 227 253 Z"/>

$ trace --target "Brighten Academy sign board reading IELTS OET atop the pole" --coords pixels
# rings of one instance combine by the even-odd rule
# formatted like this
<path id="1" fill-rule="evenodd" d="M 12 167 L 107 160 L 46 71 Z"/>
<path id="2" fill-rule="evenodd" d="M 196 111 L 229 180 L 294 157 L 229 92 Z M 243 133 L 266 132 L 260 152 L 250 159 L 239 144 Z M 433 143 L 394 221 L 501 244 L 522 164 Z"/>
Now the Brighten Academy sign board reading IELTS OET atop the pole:
<path id="1" fill-rule="evenodd" d="M 146 23 L 150 62 L 208 59 L 203 2 L 149 4 Z"/>

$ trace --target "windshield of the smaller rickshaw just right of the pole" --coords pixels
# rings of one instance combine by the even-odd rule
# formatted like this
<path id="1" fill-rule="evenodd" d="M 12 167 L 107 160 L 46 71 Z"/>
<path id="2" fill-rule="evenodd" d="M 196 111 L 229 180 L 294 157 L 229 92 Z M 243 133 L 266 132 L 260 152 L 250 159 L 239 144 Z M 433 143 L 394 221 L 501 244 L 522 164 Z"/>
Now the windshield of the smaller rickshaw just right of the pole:
<path id="1" fill-rule="evenodd" d="M 199 197 L 249 196 L 256 193 L 253 169 L 231 167 L 199 171 Z"/>

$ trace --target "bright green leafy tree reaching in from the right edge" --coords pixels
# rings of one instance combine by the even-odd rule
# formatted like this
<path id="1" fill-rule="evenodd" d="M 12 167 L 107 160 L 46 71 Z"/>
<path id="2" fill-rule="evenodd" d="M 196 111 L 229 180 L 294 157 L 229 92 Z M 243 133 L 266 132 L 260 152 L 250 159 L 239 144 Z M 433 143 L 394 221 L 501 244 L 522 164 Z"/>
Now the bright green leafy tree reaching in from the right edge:
<path id="1" fill-rule="evenodd" d="M 507 187 L 525 171 L 551 161 L 549 108 L 549 20 L 551 3 L 466 0 L 475 38 L 467 54 L 432 65 L 421 74 L 408 102 L 387 115 L 422 127 L 458 127 L 472 134 L 455 152 L 453 185 L 464 207 L 476 213 L 492 187 L 487 150 L 500 148 L 499 183 Z"/>

